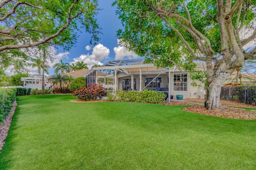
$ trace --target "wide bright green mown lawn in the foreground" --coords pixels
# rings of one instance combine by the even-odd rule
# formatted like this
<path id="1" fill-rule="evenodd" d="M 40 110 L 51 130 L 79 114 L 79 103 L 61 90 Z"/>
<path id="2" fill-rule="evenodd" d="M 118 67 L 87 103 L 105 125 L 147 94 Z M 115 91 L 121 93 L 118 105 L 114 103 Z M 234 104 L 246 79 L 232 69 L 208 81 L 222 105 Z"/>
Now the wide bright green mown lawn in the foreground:
<path id="1" fill-rule="evenodd" d="M 256 120 L 189 113 L 183 106 L 69 102 L 73 99 L 18 97 L 0 169 L 256 167 Z"/>

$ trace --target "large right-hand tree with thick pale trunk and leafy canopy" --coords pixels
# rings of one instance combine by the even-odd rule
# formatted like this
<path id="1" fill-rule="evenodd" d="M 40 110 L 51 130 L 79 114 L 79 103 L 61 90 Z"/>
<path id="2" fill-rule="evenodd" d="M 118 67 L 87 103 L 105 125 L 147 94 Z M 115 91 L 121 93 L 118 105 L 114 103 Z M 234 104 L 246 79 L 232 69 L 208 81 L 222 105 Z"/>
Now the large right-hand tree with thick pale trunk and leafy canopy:
<path id="1" fill-rule="evenodd" d="M 256 59 L 256 48 L 243 46 L 256 38 L 255 0 L 116 0 L 124 30 L 121 43 L 148 63 L 193 70 L 193 61 L 206 63 L 206 72 L 190 74 L 206 85 L 205 106 L 222 108 L 224 80 L 246 60 Z M 243 33 L 251 32 L 248 37 Z M 224 75 L 220 75 L 220 71 Z"/>

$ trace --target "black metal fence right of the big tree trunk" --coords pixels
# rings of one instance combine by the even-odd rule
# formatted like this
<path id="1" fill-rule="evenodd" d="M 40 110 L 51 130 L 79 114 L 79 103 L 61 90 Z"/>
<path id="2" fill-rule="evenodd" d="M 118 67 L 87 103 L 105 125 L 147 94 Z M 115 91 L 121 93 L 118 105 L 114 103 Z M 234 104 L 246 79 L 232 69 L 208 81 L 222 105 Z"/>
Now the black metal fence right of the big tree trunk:
<path id="1" fill-rule="evenodd" d="M 220 99 L 256 105 L 256 86 L 222 86 Z"/>

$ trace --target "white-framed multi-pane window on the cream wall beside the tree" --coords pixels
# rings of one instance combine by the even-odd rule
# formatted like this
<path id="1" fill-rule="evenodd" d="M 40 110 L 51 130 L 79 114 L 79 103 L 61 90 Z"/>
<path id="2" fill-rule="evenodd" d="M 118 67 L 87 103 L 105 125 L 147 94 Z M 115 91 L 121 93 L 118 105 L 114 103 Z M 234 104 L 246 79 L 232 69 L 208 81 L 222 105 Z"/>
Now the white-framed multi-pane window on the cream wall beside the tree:
<path id="1" fill-rule="evenodd" d="M 173 83 L 174 91 L 187 91 L 188 75 L 174 74 Z"/>

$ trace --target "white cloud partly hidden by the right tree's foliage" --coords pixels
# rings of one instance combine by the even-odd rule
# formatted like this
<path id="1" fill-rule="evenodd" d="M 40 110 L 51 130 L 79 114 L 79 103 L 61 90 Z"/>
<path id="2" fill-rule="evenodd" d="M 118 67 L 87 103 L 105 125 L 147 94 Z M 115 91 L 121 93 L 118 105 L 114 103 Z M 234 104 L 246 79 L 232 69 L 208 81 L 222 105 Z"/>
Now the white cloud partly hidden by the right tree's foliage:
<path id="1" fill-rule="evenodd" d="M 128 57 L 128 59 L 136 59 L 138 55 L 134 53 L 133 51 L 129 51 L 126 49 L 126 47 L 123 46 L 123 44 L 120 43 L 120 39 L 117 40 L 118 47 L 114 47 L 114 53 L 115 55 L 115 60 L 122 60 L 124 57 Z"/>

